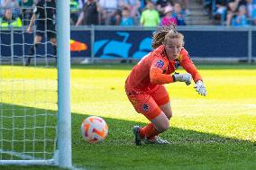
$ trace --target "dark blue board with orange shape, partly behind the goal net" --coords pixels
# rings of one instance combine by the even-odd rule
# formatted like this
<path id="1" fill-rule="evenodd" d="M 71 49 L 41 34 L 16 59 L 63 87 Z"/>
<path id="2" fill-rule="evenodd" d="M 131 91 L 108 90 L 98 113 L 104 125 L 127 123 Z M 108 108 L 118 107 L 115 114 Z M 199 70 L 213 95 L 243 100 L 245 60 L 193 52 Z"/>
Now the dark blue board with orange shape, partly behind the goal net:
<path id="1" fill-rule="evenodd" d="M 91 33 L 90 31 L 71 31 L 70 32 L 71 57 L 89 57 L 91 56 Z M 13 39 L 13 44 L 11 42 Z M 27 57 L 30 47 L 33 44 L 33 33 L 25 31 L 14 31 L 13 37 L 11 31 L 1 31 L 0 33 L 0 55 L 3 58 L 12 56 L 14 58 Z M 46 46 L 46 47 L 45 47 Z M 53 55 L 53 49 L 50 41 L 45 41 L 44 37 L 36 50 L 37 58 Z M 73 47 L 76 47 L 75 49 Z M 72 49 L 73 48 L 73 49 Z M 47 54 L 46 54 L 47 53 Z"/>

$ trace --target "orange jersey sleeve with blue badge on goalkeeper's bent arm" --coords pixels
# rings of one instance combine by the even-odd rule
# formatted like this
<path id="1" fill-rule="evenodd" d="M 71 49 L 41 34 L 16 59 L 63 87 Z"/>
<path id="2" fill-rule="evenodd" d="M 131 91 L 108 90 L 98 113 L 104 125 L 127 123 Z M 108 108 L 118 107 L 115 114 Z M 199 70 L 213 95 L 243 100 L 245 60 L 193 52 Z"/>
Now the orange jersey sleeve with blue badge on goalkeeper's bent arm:
<path id="1" fill-rule="evenodd" d="M 156 58 L 151 63 L 150 78 L 151 84 L 164 85 L 173 82 L 170 75 L 164 74 L 168 63 L 162 58 Z"/>

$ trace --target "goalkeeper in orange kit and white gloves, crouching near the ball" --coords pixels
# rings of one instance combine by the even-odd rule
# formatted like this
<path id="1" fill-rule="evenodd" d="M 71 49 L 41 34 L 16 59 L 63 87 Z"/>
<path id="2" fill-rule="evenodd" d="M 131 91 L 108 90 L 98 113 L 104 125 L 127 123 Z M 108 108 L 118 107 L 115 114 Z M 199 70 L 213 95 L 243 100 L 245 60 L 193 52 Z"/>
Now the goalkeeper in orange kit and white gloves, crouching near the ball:
<path id="1" fill-rule="evenodd" d="M 206 87 L 197 67 L 184 49 L 184 36 L 175 27 L 163 27 L 152 37 L 151 53 L 133 67 L 125 82 L 125 92 L 136 112 L 142 113 L 149 121 L 145 127 L 134 126 L 135 144 L 169 144 L 159 134 L 169 129 L 172 116 L 169 94 L 164 84 L 184 82 L 191 84 L 193 78 L 198 94 L 206 95 Z M 179 67 L 186 74 L 173 74 Z"/>

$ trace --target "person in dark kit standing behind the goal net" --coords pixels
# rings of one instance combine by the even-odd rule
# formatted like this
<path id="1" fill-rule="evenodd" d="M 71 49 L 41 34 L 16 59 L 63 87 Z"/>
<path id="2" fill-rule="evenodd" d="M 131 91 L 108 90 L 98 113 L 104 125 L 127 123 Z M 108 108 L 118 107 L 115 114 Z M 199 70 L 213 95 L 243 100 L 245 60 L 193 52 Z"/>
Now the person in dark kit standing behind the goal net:
<path id="1" fill-rule="evenodd" d="M 56 58 L 57 54 L 57 40 L 55 31 L 55 15 L 56 15 L 56 3 L 55 0 L 39 0 L 35 4 L 32 19 L 28 26 L 27 31 L 32 32 L 32 25 L 36 21 L 36 33 L 34 37 L 34 44 L 29 50 L 29 57 L 26 60 L 25 65 L 29 66 L 31 58 L 34 55 L 35 49 L 38 48 L 41 38 L 46 32 L 47 37 L 50 39 L 50 43 L 53 46 L 53 54 Z"/>

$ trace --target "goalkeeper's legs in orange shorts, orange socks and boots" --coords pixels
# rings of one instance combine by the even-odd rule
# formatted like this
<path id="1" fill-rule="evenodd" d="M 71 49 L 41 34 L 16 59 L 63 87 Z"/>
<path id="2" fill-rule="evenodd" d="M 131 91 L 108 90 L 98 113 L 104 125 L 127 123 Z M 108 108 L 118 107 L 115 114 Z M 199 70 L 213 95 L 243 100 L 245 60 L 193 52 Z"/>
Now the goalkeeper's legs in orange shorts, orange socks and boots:
<path id="1" fill-rule="evenodd" d="M 142 99 L 148 100 L 143 101 Z M 142 139 L 154 140 L 154 142 L 151 143 L 169 143 L 166 140 L 155 140 L 161 132 L 169 129 L 169 119 L 172 115 L 169 104 L 169 94 L 166 88 L 160 85 L 153 93 L 145 94 L 143 97 L 137 97 L 135 100 L 132 99 L 130 101 L 133 101 L 133 106 L 137 112 L 141 112 L 151 121 L 142 128 L 138 126 L 133 128 L 136 144 L 141 145 Z M 134 104 L 134 102 L 137 104 Z"/>

